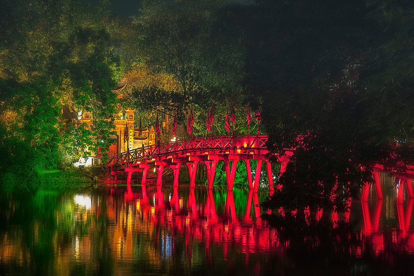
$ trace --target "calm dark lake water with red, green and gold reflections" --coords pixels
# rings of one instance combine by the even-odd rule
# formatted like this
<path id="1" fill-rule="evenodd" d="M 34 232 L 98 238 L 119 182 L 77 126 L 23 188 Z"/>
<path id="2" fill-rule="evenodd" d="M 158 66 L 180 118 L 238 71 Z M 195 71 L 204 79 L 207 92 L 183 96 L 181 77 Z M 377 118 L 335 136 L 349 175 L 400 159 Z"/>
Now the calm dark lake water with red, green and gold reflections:
<path id="1" fill-rule="evenodd" d="M 3 193 L 0 275 L 412 275 L 413 201 L 382 178 L 383 201 L 276 228 L 242 189 Z"/>

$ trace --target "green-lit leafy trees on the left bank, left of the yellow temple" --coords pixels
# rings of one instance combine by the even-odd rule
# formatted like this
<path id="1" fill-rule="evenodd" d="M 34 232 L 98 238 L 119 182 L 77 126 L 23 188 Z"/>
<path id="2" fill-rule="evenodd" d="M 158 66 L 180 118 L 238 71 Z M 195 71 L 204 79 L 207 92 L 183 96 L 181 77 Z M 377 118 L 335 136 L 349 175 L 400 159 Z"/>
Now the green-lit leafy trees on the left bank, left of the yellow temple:
<path id="1" fill-rule="evenodd" d="M 56 167 L 60 152 L 105 156 L 122 72 L 104 6 L 21 0 L 0 12 L 2 175 L 27 179 Z M 93 111 L 94 127 L 64 124 L 64 105 Z"/>

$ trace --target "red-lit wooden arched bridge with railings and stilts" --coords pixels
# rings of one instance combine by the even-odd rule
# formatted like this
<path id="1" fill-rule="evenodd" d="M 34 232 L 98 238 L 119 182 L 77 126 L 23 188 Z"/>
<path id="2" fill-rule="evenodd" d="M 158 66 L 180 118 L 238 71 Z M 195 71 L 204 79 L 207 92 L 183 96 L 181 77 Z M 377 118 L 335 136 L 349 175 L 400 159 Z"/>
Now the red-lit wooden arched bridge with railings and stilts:
<path id="1" fill-rule="evenodd" d="M 267 148 L 267 135 L 243 135 L 243 136 L 212 136 L 197 137 L 176 142 L 157 144 L 122 152 L 113 156 L 107 163 L 112 176 L 127 173 L 127 186 L 130 187 L 131 177 L 134 172 L 142 172 L 141 184 L 146 183 L 147 172 L 150 166 L 154 166 L 157 173 L 157 185 L 162 185 L 162 176 L 165 169 L 173 171 L 173 185 L 178 186 L 178 175 L 181 165 L 185 164 L 189 169 L 190 187 L 195 186 L 197 167 L 204 163 L 207 171 L 208 188 L 213 187 L 216 165 L 223 161 L 225 166 L 228 190 L 233 190 L 236 176 L 236 166 L 239 161 L 244 161 L 247 169 L 247 181 L 249 189 L 257 192 L 260 182 L 262 163 L 266 163 L 267 177 L 269 180 L 269 192 L 274 191 L 274 177 L 270 161 L 270 153 Z M 292 150 L 286 151 L 284 156 L 274 156 L 281 162 L 280 173 L 283 173 Z M 251 160 L 257 160 L 254 181 L 251 172 Z M 387 172 L 383 166 L 377 165 L 373 172 L 373 183 L 377 198 L 383 199 L 380 183 L 380 172 Z M 414 166 L 408 166 L 404 175 L 396 176 L 399 181 L 397 202 L 403 202 L 404 187 L 407 188 L 409 198 L 414 198 L 411 179 L 414 178 Z M 368 200 L 367 182 L 362 190 L 362 201 Z M 280 187 L 278 187 L 280 188 Z"/>

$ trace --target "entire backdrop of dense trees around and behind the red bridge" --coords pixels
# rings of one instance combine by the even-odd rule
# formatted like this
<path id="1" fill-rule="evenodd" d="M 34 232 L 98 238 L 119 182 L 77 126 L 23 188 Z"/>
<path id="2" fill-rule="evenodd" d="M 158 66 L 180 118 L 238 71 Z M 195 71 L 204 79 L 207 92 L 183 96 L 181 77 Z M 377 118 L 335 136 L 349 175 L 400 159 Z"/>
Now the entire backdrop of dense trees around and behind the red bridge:
<path id="1" fill-rule="evenodd" d="M 414 161 L 410 1 L 157 0 L 123 21 L 105 2 L 18 3 L 0 10 L 1 168 L 105 153 L 117 105 L 144 125 L 157 110 L 184 125 L 192 106 L 195 135 L 211 106 L 214 134 L 233 107 L 234 133 L 247 133 L 247 107 L 260 110 L 272 152 L 296 149 L 271 208 L 343 208 L 375 164 L 398 173 Z M 93 111 L 94 127 L 62 124 L 65 104 Z M 43 161 L 16 157 L 27 152 Z"/>

